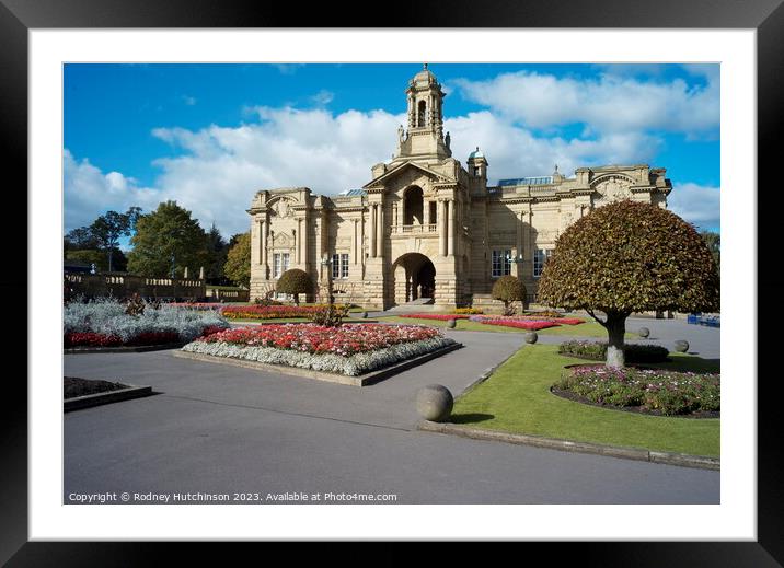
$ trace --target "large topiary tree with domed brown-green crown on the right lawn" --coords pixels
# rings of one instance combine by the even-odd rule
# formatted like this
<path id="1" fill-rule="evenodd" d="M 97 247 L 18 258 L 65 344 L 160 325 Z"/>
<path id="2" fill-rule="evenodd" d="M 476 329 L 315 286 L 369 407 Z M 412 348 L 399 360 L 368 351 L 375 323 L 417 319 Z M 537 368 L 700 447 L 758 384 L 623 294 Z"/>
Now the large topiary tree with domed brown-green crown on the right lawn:
<path id="1" fill-rule="evenodd" d="M 551 306 L 586 310 L 607 329 L 608 367 L 620 368 L 630 314 L 718 311 L 718 285 L 716 263 L 691 224 L 655 205 L 623 200 L 563 232 L 538 294 Z"/>

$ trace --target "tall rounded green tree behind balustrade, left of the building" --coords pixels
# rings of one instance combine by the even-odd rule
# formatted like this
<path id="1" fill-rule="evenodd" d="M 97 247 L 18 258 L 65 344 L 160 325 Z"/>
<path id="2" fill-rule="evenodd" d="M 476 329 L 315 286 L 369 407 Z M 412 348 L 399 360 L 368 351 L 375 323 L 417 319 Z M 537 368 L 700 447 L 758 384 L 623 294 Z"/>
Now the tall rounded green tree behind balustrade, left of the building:
<path id="1" fill-rule="evenodd" d="M 184 269 L 193 277 L 207 266 L 210 255 L 207 234 L 191 218 L 191 211 L 176 201 L 165 201 L 136 222 L 136 234 L 130 243 L 128 271 L 140 276 L 182 277 Z"/>

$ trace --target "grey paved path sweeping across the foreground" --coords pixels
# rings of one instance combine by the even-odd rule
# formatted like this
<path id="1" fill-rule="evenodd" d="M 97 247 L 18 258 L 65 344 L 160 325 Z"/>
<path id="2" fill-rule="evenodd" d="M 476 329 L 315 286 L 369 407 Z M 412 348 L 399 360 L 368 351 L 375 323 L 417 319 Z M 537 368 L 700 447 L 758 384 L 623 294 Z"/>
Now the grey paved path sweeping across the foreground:
<path id="1" fill-rule="evenodd" d="M 648 327 L 654 331 L 653 325 Z M 716 503 L 719 473 L 414 430 L 428 383 L 462 391 L 522 334 L 449 332 L 466 347 L 370 387 L 200 363 L 170 351 L 67 355 L 67 375 L 163 393 L 65 417 L 70 492 L 364 492 L 403 503 Z"/>

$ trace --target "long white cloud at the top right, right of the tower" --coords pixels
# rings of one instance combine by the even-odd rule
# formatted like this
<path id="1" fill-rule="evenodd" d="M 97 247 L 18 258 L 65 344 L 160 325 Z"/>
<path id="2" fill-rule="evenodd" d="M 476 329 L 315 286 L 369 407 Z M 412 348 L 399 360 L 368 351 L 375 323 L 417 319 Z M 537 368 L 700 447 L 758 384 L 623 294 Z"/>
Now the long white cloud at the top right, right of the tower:
<path id="1" fill-rule="evenodd" d="M 715 66 L 714 66 L 715 67 Z M 487 81 L 457 80 L 468 100 L 530 128 L 586 124 L 595 132 L 670 131 L 713 137 L 719 124 L 718 71 L 689 68 L 704 86 L 606 73 L 575 79 L 535 72 L 503 73 Z"/>

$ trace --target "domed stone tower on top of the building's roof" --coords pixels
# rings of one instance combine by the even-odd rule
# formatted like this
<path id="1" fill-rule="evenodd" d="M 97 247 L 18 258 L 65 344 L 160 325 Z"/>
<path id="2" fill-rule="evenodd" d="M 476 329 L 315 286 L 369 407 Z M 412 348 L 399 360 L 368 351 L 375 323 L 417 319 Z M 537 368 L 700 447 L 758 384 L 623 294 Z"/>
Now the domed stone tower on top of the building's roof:
<path id="1" fill-rule="evenodd" d="M 450 158 L 452 152 L 443 140 L 443 97 L 447 95 L 427 63 L 408 81 L 405 93 L 408 130 L 400 141 L 395 160 Z"/>

